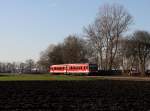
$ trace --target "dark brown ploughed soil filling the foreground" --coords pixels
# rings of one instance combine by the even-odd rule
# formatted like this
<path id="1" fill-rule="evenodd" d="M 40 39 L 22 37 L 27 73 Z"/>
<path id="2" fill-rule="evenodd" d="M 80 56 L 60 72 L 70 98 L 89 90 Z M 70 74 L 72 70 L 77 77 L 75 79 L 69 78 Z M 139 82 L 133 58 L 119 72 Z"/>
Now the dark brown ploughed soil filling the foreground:
<path id="1" fill-rule="evenodd" d="M 149 81 L 4 81 L 1 111 L 147 111 Z"/>

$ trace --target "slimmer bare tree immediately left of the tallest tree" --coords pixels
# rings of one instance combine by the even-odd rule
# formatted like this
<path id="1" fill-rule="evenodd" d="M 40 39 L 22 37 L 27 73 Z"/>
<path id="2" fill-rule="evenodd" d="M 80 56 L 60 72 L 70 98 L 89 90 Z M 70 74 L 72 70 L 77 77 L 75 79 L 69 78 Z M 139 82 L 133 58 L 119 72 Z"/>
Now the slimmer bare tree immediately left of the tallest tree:
<path id="1" fill-rule="evenodd" d="M 94 24 L 84 28 L 84 31 L 86 33 L 88 45 L 90 46 L 88 50 L 90 51 L 89 54 L 92 54 L 92 57 L 94 56 L 94 61 L 92 62 L 96 62 L 99 68 L 103 69 L 103 37 L 101 36 L 100 24 L 98 21 L 95 21 Z"/>

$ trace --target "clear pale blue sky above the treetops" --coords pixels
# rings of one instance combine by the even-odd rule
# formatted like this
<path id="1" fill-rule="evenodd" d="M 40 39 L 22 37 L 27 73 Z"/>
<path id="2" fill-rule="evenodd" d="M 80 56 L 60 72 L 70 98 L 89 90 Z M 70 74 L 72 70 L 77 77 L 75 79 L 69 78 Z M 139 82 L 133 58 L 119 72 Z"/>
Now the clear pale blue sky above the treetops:
<path id="1" fill-rule="evenodd" d="M 150 0 L 0 0 L 0 62 L 37 61 L 50 44 L 82 35 L 106 3 L 123 5 L 133 16 L 130 32 L 150 32 Z"/>

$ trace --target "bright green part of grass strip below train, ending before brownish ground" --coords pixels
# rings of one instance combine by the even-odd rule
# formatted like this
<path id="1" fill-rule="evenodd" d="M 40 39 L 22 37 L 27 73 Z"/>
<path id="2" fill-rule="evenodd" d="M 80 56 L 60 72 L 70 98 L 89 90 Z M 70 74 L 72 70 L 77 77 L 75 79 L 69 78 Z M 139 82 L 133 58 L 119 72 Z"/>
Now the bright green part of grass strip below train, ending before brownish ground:
<path id="1" fill-rule="evenodd" d="M 29 80 L 72 81 L 72 80 L 96 80 L 96 78 L 90 78 L 86 76 L 51 75 L 51 74 L 0 74 L 0 81 L 29 81 Z"/>

